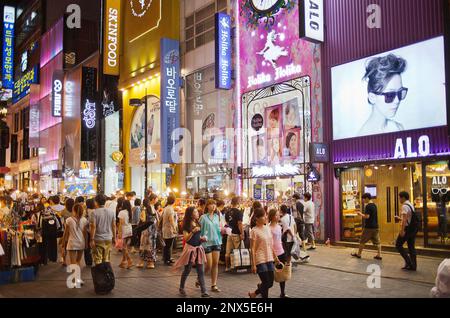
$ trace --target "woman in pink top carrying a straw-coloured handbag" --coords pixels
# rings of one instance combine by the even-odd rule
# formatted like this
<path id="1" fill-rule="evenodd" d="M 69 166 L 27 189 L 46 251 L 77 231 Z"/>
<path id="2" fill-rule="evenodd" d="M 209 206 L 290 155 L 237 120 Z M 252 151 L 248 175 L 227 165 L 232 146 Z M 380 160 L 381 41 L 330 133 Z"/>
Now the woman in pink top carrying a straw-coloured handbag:
<path id="1" fill-rule="evenodd" d="M 283 248 L 283 242 L 281 240 L 281 226 L 279 224 L 280 222 L 280 215 L 276 209 L 271 209 L 269 211 L 269 222 L 270 222 L 270 231 L 272 232 L 272 238 L 273 238 L 273 249 L 275 251 L 275 254 L 278 256 L 278 260 L 283 263 L 283 269 L 278 271 L 275 270 L 275 281 L 278 281 L 280 283 L 280 298 L 289 298 L 288 295 L 286 295 L 286 281 L 290 279 L 291 274 L 291 264 L 287 262 L 287 256 Z"/>

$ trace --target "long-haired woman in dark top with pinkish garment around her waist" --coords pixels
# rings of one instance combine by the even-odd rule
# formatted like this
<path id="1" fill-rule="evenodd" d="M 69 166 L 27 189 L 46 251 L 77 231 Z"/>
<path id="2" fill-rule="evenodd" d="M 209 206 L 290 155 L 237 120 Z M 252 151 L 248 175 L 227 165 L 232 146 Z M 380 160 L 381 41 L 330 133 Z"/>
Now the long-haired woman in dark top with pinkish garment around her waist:
<path id="1" fill-rule="evenodd" d="M 201 236 L 199 213 L 193 206 L 188 207 L 184 214 L 183 236 L 186 245 L 180 258 L 174 265 L 175 269 L 184 266 L 180 281 L 180 295 L 186 296 L 186 291 L 184 290 L 186 280 L 191 273 L 192 266 L 195 265 L 195 269 L 197 270 L 197 283 L 200 286 L 202 297 L 209 297 L 209 294 L 206 292 L 204 273 L 204 264 L 207 260 L 205 250 L 202 246 L 202 242 L 206 241 L 206 237 Z"/>

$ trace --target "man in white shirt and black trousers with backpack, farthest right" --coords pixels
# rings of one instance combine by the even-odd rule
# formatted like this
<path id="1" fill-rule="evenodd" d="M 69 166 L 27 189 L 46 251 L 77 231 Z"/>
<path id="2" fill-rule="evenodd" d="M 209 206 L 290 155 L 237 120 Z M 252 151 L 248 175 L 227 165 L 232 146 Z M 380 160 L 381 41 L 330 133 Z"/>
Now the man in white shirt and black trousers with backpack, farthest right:
<path id="1" fill-rule="evenodd" d="M 415 243 L 418 232 L 418 219 L 417 216 L 415 215 L 416 211 L 414 210 L 414 206 L 409 201 L 409 193 L 400 192 L 398 196 L 400 198 L 400 203 L 403 205 L 401 212 L 402 215 L 401 217 L 396 216 L 395 219 L 397 221 L 401 221 L 402 224 L 395 246 L 400 255 L 405 260 L 405 266 L 402 269 L 407 271 L 416 271 L 417 252 Z M 412 222 L 413 217 L 414 222 Z M 409 255 L 403 247 L 405 243 L 407 243 L 408 245 Z"/>

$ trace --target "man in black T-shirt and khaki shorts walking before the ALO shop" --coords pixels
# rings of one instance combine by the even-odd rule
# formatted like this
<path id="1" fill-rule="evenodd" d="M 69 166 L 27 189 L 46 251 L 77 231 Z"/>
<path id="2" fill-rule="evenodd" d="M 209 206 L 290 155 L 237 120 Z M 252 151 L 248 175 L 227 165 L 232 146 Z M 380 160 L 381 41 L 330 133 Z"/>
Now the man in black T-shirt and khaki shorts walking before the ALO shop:
<path id="1" fill-rule="evenodd" d="M 374 257 L 377 260 L 382 260 L 381 258 L 381 243 L 380 243 L 380 232 L 378 229 L 378 213 L 377 206 L 372 202 L 372 196 L 370 193 L 365 193 L 362 196 L 365 210 L 364 214 L 358 212 L 358 214 L 364 220 L 364 230 L 359 242 L 358 254 L 352 254 L 353 257 L 361 258 L 362 251 L 367 242 L 372 241 L 374 245 L 377 246 L 378 253 Z"/>

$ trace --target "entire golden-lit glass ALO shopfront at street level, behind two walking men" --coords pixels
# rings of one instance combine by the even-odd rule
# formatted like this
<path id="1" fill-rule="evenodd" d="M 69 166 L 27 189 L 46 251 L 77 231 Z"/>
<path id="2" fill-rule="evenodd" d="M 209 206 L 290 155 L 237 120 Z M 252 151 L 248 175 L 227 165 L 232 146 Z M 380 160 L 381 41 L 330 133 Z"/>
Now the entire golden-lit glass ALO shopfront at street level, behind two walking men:
<path id="1" fill-rule="evenodd" d="M 378 207 L 383 245 L 394 245 L 400 231 L 395 216 L 401 213 L 398 194 L 407 191 L 422 220 L 416 245 L 450 248 L 450 165 L 448 161 L 370 165 L 341 172 L 342 239 L 359 241 L 364 209 L 363 193 L 370 193 Z"/>

